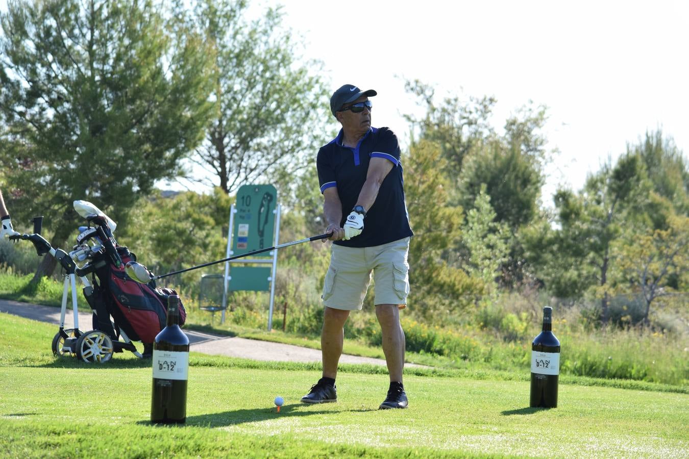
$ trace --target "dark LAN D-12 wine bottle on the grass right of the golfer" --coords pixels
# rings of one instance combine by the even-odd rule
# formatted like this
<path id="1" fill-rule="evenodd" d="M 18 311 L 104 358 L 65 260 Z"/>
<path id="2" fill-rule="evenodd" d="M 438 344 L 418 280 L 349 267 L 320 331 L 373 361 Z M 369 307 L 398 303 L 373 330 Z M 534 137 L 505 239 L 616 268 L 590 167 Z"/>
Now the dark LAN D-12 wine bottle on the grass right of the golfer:
<path id="1" fill-rule="evenodd" d="M 553 308 L 543 308 L 543 330 L 531 343 L 532 408 L 557 407 L 559 341 L 553 334 Z"/>

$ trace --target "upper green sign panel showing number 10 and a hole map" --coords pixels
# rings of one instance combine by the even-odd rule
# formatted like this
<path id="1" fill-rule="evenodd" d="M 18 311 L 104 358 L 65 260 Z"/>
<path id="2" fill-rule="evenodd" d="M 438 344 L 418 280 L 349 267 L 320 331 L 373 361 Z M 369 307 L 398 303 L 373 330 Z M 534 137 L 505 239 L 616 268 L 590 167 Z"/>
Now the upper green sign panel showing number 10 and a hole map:
<path id="1" fill-rule="evenodd" d="M 237 191 L 232 250 L 234 255 L 273 245 L 278 191 L 273 185 L 243 185 Z M 258 257 L 270 256 L 270 253 Z"/>

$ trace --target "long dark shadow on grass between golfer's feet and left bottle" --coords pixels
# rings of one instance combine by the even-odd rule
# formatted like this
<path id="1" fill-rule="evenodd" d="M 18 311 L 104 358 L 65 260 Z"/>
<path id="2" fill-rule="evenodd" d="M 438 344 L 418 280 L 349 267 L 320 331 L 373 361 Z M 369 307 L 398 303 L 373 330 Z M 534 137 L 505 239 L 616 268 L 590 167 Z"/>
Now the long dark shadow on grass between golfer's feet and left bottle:
<path id="1" fill-rule="evenodd" d="M 312 416 L 313 414 L 337 414 L 341 412 L 371 412 L 378 411 L 378 408 L 370 409 L 345 409 L 342 411 L 333 412 L 327 409 L 302 409 L 308 408 L 310 405 L 305 403 L 294 403 L 292 405 L 283 405 L 280 412 L 276 412 L 275 408 L 254 408 L 254 409 L 236 409 L 234 411 L 227 411 L 222 413 L 203 414 L 201 416 L 187 416 L 185 425 L 194 425 L 198 427 L 227 427 L 229 425 L 239 425 L 243 423 L 254 423 L 256 421 L 275 419 L 278 416 L 292 417 L 292 416 Z M 151 425 L 150 420 L 139 420 L 138 425 Z"/>

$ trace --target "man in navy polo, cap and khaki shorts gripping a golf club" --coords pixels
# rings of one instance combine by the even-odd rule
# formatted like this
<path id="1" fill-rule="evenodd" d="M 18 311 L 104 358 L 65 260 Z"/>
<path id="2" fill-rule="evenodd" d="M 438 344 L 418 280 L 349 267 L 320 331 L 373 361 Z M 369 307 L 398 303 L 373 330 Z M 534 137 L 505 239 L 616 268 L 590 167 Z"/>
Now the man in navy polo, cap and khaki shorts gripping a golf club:
<path id="1" fill-rule="evenodd" d="M 342 354 L 344 325 L 361 310 L 371 275 L 376 317 L 382 331 L 390 386 L 380 409 L 406 408 L 402 385 L 404 332 L 400 309 L 409 294 L 409 238 L 413 235 L 404 202 L 400 145 L 387 127 L 371 127 L 376 91 L 344 85 L 330 98 L 340 134 L 318 151 L 316 166 L 326 233 L 333 240 L 323 286 L 322 378 L 304 403 L 337 401 L 335 379 Z"/>

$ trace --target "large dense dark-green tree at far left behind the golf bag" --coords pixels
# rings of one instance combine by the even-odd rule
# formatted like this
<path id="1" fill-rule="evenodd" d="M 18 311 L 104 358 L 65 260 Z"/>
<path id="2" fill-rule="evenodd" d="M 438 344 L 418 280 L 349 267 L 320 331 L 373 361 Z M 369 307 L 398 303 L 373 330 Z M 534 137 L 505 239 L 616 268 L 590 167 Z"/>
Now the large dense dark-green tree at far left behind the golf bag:
<path id="1" fill-rule="evenodd" d="M 151 0 L 10 1 L 0 24 L 12 213 L 45 215 L 56 246 L 79 221 L 75 199 L 125 224 L 203 136 L 211 50 L 194 35 L 174 48 Z M 45 257 L 35 279 L 53 269 Z"/>

